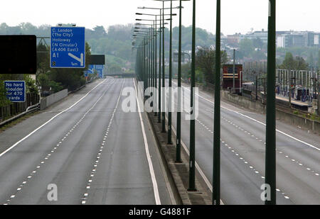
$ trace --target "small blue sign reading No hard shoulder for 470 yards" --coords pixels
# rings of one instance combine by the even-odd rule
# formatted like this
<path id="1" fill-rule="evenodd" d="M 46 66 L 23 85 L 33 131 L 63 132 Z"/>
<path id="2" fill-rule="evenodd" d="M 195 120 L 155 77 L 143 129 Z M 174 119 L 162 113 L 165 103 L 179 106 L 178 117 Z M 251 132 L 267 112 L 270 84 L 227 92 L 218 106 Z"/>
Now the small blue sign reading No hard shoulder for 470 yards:
<path id="1" fill-rule="evenodd" d="M 6 81 L 4 82 L 6 89 L 6 98 L 11 102 L 26 101 L 26 82 L 23 81 Z"/>

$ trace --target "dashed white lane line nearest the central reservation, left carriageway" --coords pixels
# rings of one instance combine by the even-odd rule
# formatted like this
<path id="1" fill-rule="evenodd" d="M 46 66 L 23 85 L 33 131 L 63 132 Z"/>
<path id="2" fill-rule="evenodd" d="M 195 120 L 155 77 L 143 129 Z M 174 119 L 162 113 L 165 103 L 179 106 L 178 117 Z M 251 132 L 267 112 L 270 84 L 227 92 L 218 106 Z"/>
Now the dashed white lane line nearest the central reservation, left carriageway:
<path id="1" fill-rule="evenodd" d="M 110 127 L 110 125 L 112 124 L 112 120 L 113 120 L 113 118 L 114 118 L 114 113 L 116 113 L 116 111 L 117 111 L 117 108 L 118 108 L 118 105 L 119 105 L 119 100 L 120 100 L 120 97 L 121 97 L 121 95 L 122 95 L 122 89 L 123 89 L 123 86 L 124 86 L 124 82 L 122 83 L 122 87 L 121 87 L 121 90 L 120 90 L 120 94 L 119 94 L 119 97 L 118 97 L 118 99 L 117 99 L 117 104 L 116 104 L 116 106 L 114 107 L 114 111 L 112 112 L 112 116 L 111 116 L 111 118 L 110 118 L 110 121 L 109 121 L 109 125 L 108 125 L 108 127 Z M 108 128 L 108 130 L 109 130 L 109 128 Z M 91 172 L 91 174 L 90 174 L 90 179 L 88 180 L 88 182 L 87 182 L 87 186 L 86 186 L 86 189 L 87 190 L 89 190 L 91 187 L 91 183 L 92 183 L 92 180 L 93 180 L 93 178 L 95 177 L 95 174 L 96 174 L 96 172 L 97 172 L 97 167 L 98 167 L 98 164 L 99 164 L 99 160 L 100 160 L 100 155 L 101 155 L 101 152 L 103 151 L 103 148 L 105 147 L 105 145 L 107 144 L 106 143 L 106 140 L 107 140 L 107 133 L 106 133 L 106 135 L 105 135 L 105 137 L 104 137 L 104 139 L 103 139 L 103 141 L 102 141 L 102 144 L 101 144 L 101 146 L 100 146 L 100 150 L 99 150 L 99 152 L 97 153 L 97 159 L 95 160 L 95 163 L 93 164 L 93 169 L 92 169 L 92 172 Z M 87 203 L 87 201 L 85 201 L 85 200 L 87 200 L 87 197 L 89 196 L 89 193 L 88 193 L 88 191 L 86 191 L 84 194 L 83 194 L 83 196 L 82 196 L 82 201 L 81 201 L 81 204 L 82 205 L 85 205 L 85 203 Z"/>

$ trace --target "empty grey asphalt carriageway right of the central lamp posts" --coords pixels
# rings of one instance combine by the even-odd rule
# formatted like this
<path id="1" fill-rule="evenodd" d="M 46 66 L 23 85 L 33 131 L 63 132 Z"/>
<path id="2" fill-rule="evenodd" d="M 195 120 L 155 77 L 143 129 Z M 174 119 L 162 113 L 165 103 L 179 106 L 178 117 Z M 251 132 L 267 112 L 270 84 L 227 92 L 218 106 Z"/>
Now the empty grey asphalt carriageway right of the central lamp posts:
<path id="1" fill-rule="evenodd" d="M 168 81 L 166 81 L 166 86 Z M 176 81 L 173 82 L 176 87 Z M 190 89 L 183 84 L 190 102 Z M 213 96 L 198 94 L 196 162 L 212 186 Z M 177 106 L 177 101 L 175 99 Z M 221 104 L 221 199 L 225 204 L 263 204 L 265 115 Z M 190 121 L 181 116 L 189 148 Z M 172 113 L 176 128 L 176 113 Z M 320 136 L 277 121 L 277 204 L 320 204 Z"/>

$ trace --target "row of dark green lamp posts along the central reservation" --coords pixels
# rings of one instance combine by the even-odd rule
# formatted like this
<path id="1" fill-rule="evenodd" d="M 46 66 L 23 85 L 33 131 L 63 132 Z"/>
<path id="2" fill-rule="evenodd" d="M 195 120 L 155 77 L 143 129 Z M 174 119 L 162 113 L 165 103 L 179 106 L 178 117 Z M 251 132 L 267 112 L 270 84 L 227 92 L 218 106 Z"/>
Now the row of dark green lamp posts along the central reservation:
<path id="1" fill-rule="evenodd" d="M 166 96 L 161 96 L 161 87 L 165 87 L 165 60 L 164 60 L 164 10 L 170 9 L 170 49 L 169 49 L 169 91 L 172 86 L 172 1 L 180 1 L 179 9 L 179 36 L 178 36 L 178 112 L 177 112 L 177 133 L 176 133 L 176 162 L 181 162 L 181 14 L 182 14 L 182 1 L 189 0 L 154 0 L 162 1 L 162 9 L 159 15 L 136 13 L 137 15 L 155 16 L 154 20 L 137 21 L 153 21 L 152 28 L 149 33 L 144 36 L 142 45 L 138 47 L 137 69 L 139 79 L 143 79 L 146 86 L 157 86 L 156 79 L 159 77 L 159 100 L 158 107 L 159 113 L 158 122 L 162 123 L 162 132 L 166 132 L 165 127 L 165 112 L 161 112 L 161 99 L 165 103 Z M 170 8 L 164 8 L 164 1 L 171 1 Z M 267 129 L 266 129 L 266 159 L 265 159 L 265 184 L 270 186 L 270 197 L 265 200 L 265 204 L 276 204 L 275 188 L 276 188 L 276 165 L 275 165 L 275 0 L 269 1 L 269 26 L 268 26 L 268 70 L 267 70 Z M 139 9 L 155 9 L 142 7 Z M 159 74 L 157 74 L 157 21 L 159 16 Z M 148 24 L 146 24 L 148 25 Z M 143 33 L 143 31 L 139 31 Z M 214 106 L 214 135 L 213 135 L 213 205 L 220 205 L 220 0 L 217 0 L 217 13 L 216 13 L 216 40 L 215 40 L 215 106 Z M 141 35 L 143 36 L 143 35 Z M 146 54 L 148 54 L 146 60 Z M 191 109 L 195 112 L 194 101 L 195 92 L 195 72 L 196 72 L 196 0 L 193 0 L 193 28 L 192 28 L 192 58 L 191 58 Z M 140 73 L 142 72 L 142 73 Z M 161 83 L 162 73 L 162 83 Z M 146 87 L 144 87 L 146 89 Z M 155 103 L 154 103 L 155 104 Z M 169 113 L 168 113 L 168 145 L 172 144 L 171 141 L 171 94 L 169 93 Z M 189 186 L 188 191 L 196 191 L 195 184 L 195 118 L 191 118 L 190 123 L 190 159 L 189 159 Z"/>

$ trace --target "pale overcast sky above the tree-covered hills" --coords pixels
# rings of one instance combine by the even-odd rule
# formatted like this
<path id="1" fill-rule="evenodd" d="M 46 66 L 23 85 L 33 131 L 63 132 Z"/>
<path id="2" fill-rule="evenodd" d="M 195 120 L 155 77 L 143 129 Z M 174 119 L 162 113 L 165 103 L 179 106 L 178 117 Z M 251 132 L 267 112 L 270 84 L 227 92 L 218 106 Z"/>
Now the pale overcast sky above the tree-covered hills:
<path id="1" fill-rule="evenodd" d="M 215 32 L 215 4 L 215 0 L 196 1 L 196 26 L 211 33 Z M 0 23 L 9 26 L 21 22 L 36 26 L 76 23 L 86 28 L 107 28 L 114 24 L 134 23 L 138 18 L 136 12 L 159 13 L 158 10 L 137 9 L 138 6 L 161 7 L 162 3 L 152 0 L 9 0 L 1 1 Z M 178 6 L 178 1 L 174 1 L 174 6 Z M 183 6 L 183 25 L 190 26 L 192 1 L 183 2 Z M 247 33 L 251 28 L 267 30 L 268 0 L 222 0 L 221 8 L 224 34 Z M 277 30 L 320 32 L 319 9 L 319 0 L 277 0 Z M 178 26 L 178 17 L 174 20 L 174 26 Z"/>

